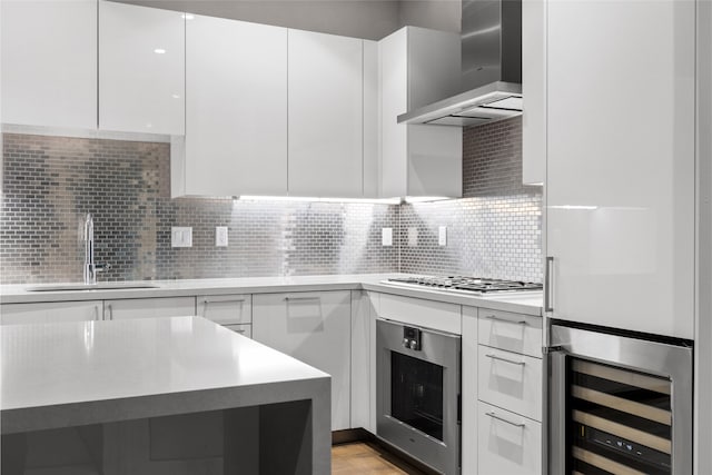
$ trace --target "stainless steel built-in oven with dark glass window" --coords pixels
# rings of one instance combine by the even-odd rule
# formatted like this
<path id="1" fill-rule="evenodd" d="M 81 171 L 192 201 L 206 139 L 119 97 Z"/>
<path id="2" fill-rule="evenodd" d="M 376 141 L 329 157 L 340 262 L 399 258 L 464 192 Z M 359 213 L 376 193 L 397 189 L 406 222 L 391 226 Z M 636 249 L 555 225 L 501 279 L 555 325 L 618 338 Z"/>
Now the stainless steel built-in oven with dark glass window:
<path id="1" fill-rule="evenodd" d="M 459 473 L 461 337 L 377 320 L 376 434 L 443 474 Z"/>

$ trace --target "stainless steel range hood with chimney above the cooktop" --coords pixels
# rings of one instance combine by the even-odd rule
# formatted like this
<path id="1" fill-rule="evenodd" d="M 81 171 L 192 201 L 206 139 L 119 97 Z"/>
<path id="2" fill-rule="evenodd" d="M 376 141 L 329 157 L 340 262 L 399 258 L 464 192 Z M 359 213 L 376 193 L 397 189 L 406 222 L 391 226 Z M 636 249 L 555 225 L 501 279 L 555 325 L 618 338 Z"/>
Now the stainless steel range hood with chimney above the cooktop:
<path id="1" fill-rule="evenodd" d="M 398 123 L 478 126 L 522 113 L 522 1 L 462 0 L 465 92 L 398 116 Z"/>

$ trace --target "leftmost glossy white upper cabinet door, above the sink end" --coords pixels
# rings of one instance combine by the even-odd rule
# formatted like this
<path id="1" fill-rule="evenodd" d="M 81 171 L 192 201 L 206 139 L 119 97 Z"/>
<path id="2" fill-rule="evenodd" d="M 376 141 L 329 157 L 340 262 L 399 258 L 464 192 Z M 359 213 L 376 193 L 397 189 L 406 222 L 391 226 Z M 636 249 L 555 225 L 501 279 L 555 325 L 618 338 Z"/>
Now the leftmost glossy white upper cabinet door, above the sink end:
<path id="1" fill-rule="evenodd" d="M 97 128 L 97 1 L 3 0 L 4 123 Z"/>

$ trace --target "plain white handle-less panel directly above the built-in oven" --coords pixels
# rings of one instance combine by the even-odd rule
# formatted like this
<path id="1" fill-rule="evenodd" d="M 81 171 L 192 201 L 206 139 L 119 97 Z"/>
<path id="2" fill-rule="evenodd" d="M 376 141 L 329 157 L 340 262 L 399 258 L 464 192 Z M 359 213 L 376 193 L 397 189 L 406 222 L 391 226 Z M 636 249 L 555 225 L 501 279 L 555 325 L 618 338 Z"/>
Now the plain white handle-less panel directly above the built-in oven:
<path id="1" fill-rule="evenodd" d="M 462 335 L 462 307 L 443 301 L 380 294 L 378 316 Z"/>

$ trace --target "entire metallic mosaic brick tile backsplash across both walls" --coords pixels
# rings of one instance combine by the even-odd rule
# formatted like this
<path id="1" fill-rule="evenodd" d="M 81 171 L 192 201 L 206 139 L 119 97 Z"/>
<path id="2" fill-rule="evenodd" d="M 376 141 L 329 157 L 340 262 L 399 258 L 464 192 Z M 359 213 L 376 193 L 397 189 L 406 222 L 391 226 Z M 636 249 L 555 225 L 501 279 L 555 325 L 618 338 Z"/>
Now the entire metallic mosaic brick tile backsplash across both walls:
<path id="1" fill-rule="evenodd" d="M 464 131 L 464 198 L 413 205 L 170 199 L 167 144 L 3 135 L 0 283 L 79 281 L 95 215 L 100 280 L 406 271 L 542 279 L 541 188 L 521 119 Z M 170 246 L 191 226 L 191 248 Z M 228 247 L 215 246 L 227 226 Z M 437 244 L 447 226 L 447 246 Z M 394 228 L 394 246 L 380 229 Z"/>

